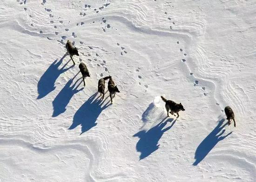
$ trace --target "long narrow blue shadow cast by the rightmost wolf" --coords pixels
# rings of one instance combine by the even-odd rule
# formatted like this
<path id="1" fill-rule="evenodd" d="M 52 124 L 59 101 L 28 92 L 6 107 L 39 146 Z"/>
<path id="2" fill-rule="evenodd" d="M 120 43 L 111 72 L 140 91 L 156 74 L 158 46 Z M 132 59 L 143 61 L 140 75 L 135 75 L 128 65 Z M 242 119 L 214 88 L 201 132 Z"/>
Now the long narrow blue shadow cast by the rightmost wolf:
<path id="1" fill-rule="evenodd" d="M 229 134 L 222 136 L 223 133 L 225 132 L 225 129 L 224 130 L 222 129 L 228 124 L 227 122 L 224 125 L 222 125 L 224 121 L 225 119 L 220 120 L 217 126 L 215 127 L 215 129 L 212 130 L 212 132 L 210 132 L 210 134 L 206 136 L 206 138 L 204 138 L 204 140 L 197 147 L 195 151 L 195 163 L 193 163 L 194 166 L 200 163 L 204 159 L 204 157 L 209 154 L 209 152 L 215 147 L 215 145 L 218 142 L 225 139 L 227 136 L 229 136 L 232 133 L 231 131 Z M 222 132 L 219 133 L 221 130 Z"/>

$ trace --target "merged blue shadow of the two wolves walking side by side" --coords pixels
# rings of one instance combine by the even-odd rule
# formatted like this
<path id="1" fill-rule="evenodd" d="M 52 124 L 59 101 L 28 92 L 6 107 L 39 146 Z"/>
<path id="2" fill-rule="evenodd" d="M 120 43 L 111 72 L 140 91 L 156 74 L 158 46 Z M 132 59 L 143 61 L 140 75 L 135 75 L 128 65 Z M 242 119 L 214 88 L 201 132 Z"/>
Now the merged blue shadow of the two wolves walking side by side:
<path id="1" fill-rule="evenodd" d="M 74 114 L 73 123 L 69 127 L 69 130 L 74 129 L 78 125 L 81 125 L 82 134 L 97 125 L 96 121 L 102 110 L 108 108 L 108 106 L 111 105 L 110 101 L 103 105 L 107 97 L 104 101 L 100 99 L 100 96 L 95 99 L 97 93 L 98 92 L 89 97 L 88 100 L 76 111 Z"/>

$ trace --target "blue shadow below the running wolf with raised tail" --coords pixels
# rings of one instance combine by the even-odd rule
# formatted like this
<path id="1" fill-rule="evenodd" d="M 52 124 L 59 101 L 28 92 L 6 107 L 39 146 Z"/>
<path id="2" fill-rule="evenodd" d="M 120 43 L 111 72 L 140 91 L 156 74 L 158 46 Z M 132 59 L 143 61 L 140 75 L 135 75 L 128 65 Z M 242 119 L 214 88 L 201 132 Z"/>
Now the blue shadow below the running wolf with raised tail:
<path id="1" fill-rule="evenodd" d="M 173 127 L 173 125 L 175 124 L 176 120 L 170 126 L 163 129 L 168 122 L 173 121 L 173 118 L 168 118 L 164 123 L 162 123 L 166 118 L 167 117 L 165 117 L 160 123 L 149 129 L 148 131 L 141 130 L 134 135 L 134 137 L 138 136 L 140 138 L 140 140 L 136 144 L 136 150 L 138 152 L 141 152 L 140 160 L 149 156 L 159 148 L 160 144 L 158 144 L 158 141 L 162 137 L 163 133 L 171 129 L 171 127 Z"/>

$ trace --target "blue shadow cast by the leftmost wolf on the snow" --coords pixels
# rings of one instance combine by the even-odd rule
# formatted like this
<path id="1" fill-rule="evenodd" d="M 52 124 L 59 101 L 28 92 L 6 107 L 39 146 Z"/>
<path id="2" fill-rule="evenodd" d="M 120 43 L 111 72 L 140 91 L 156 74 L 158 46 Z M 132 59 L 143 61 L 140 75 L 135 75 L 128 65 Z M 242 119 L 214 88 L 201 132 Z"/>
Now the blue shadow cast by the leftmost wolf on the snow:
<path id="1" fill-rule="evenodd" d="M 56 79 L 61 75 L 61 73 L 67 71 L 69 68 L 74 67 L 74 65 L 64 69 L 66 65 L 69 63 L 69 61 L 61 68 L 58 69 L 58 67 L 61 65 L 63 59 L 67 56 L 67 53 L 64 54 L 64 56 L 58 61 L 56 59 L 49 68 L 44 72 L 44 74 L 41 76 L 38 84 L 37 84 L 37 91 L 38 91 L 38 97 L 37 99 L 45 97 L 48 93 L 51 91 L 54 91 L 55 87 L 55 81 Z"/>

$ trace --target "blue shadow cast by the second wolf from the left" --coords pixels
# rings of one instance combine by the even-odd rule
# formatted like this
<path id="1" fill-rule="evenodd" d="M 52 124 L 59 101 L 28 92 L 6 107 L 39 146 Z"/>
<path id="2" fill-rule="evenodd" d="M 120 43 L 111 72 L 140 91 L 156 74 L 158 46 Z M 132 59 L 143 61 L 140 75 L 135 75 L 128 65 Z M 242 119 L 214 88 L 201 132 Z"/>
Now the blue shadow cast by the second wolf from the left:
<path id="1" fill-rule="evenodd" d="M 74 76 L 74 78 L 79 74 L 79 72 Z M 60 93 L 54 98 L 53 101 L 53 107 L 54 107 L 54 112 L 52 117 L 59 116 L 61 113 L 66 111 L 67 104 L 71 100 L 71 98 L 76 94 L 77 92 L 81 91 L 84 89 L 81 88 L 79 90 L 78 87 L 82 83 L 82 80 L 79 84 L 77 82 L 81 79 L 79 78 L 76 80 L 76 82 L 71 86 L 72 82 L 74 81 L 74 78 L 70 79 L 67 84 L 63 87 L 63 89 L 60 91 Z M 75 85 L 77 86 L 75 87 Z"/>

